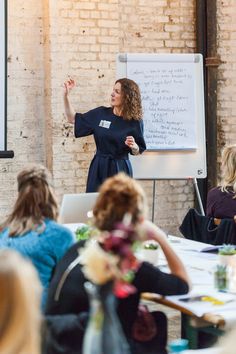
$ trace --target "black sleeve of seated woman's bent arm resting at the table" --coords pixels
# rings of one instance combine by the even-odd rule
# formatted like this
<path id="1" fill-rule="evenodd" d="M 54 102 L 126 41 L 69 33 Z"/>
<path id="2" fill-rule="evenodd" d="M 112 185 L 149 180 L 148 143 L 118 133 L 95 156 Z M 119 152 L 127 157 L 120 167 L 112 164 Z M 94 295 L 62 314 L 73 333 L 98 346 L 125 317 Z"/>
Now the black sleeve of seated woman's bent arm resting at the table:
<path id="1" fill-rule="evenodd" d="M 162 272 L 152 264 L 143 262 L 134 281 L 140 292 L 160 295 L 181 295 L 189 290 L 188 284 L 174 274 Z"/>

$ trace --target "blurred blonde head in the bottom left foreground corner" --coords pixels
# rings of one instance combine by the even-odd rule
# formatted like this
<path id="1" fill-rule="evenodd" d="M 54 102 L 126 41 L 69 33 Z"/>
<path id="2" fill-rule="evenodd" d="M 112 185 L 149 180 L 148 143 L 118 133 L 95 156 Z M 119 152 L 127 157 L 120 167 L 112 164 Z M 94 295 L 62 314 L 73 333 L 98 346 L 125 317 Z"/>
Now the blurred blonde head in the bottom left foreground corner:
<path id="1" fill-rule="evenodd" d="M 41 284 L 15 251 L 0 251 L 0 289 L 0 353 L 40 354 Z"/>

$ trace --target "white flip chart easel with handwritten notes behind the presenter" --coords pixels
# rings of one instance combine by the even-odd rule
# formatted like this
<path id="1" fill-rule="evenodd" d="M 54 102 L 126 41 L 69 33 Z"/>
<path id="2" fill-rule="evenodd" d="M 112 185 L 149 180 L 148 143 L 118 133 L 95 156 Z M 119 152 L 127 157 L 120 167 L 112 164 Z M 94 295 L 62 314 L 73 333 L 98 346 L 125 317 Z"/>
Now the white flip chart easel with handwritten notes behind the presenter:
<path id="1" fill-rule="evenodd" d="M 131 156 L 136 179 L 192 178 L 201 212 L 197 178 L 206 177 L 203 59 L 201 54 L 123 53 L 117 78 L 140 87 L 147 151 Z M 154 212 L 153 212 L 154 215 Z"/>

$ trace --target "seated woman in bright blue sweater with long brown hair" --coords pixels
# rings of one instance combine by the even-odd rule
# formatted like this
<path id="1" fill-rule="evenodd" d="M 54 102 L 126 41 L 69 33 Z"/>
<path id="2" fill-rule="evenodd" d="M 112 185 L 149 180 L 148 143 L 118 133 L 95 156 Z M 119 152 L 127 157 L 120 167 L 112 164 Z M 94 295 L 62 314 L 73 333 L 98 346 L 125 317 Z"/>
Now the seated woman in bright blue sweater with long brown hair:
<path id="1" fill-rule="evenodd" d="M 44 304 L 54 268 L 73 245 L 74 236 L 56 222 L 58 205 L 44 166 L 26 168 L 17 182 L 13 211 L 0 225 L 0 249 L 15 249 L 32 261 L 44 288 Z"/>

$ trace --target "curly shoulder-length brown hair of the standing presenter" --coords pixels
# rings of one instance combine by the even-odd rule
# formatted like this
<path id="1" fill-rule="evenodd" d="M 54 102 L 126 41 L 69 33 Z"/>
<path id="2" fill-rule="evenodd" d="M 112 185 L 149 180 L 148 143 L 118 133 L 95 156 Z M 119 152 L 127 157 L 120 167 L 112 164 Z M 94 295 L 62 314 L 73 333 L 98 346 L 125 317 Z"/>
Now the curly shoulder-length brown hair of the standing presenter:
<path id="1" fill-rule="evenodd" d="M 133 80 L 123 78 L 115 83 L 121 84 L 122 117 L 125 120 L 141 120 L 143 116 L 141 94 Z"/>

